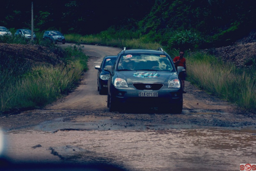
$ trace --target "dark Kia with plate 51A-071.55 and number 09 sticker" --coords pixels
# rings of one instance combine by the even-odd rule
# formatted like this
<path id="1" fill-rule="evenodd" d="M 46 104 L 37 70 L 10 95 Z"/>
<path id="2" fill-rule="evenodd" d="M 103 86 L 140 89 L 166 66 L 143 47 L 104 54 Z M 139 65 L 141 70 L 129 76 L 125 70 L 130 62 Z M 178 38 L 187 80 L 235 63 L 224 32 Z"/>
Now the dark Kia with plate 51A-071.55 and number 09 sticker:
<path id="1" fill-rule="evenodd" d="M 181 113 L 183 93 L 178 76 L 184 67 L 176 71 L 171 57 L 158 50 L 124 48 L 115 65 L 105 66 L 110 73 L 108 80 L 108 107 L 110 111 L 120 106 L 164 106 L 172 113 Z"/>

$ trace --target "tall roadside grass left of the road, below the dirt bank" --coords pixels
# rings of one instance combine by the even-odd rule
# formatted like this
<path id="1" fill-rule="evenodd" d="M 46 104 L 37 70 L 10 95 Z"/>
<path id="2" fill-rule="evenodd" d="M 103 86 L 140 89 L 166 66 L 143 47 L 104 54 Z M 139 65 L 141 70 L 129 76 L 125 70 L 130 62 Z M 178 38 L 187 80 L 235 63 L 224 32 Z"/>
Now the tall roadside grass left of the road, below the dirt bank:
<path id="1" fill-rule="evenodd" d="M 63 63 L 56 66 L 36 66 L 20 75 L 2 70 L 0 113 L 40 108 L 74 89 L 87 70 L 88 57 L 77 46 L 63 51 Z"/>

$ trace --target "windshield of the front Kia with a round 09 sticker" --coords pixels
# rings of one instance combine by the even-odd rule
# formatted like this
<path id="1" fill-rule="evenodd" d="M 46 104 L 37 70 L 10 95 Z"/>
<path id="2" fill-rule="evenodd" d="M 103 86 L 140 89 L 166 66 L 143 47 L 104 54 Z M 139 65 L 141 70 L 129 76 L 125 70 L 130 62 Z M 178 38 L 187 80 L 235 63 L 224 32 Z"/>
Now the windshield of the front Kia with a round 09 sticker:
<path id="1" fill-rule="evenodd" d="M 123 54 L 117 65 L 117 71 L 173 71 L 167 55 L 160 54 Z"/>

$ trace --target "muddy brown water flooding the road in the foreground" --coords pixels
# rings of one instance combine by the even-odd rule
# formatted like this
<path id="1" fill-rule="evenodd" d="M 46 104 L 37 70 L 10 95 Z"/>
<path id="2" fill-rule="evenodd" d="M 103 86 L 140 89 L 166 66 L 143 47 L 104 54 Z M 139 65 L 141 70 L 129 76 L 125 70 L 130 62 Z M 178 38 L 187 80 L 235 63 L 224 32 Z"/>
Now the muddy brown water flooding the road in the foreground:
<path id="1" fill-rule="evenodd" d="M 132 171 L 239 170 L 256 158 L 252 130 L 19 130 L 4 137 L 14 160 L 107 162 Z"/>

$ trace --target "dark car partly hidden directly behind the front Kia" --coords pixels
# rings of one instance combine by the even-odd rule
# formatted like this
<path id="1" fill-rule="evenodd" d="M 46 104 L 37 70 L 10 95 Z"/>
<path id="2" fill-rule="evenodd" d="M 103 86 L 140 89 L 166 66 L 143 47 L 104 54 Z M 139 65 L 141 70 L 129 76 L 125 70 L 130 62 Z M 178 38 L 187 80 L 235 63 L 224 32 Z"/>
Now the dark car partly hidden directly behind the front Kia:
<path id="1" fill-rule="evenodd" d="M 95 66 L 98 69 L 97 74 L 97 86 L 100 94 L 106 94 L 108 92 L 108 79 L 109 72 L 104 71 L 104 67 L 107 65 L 113 65 L 116 61 L 117 56 L 105 56 L 101 62 L 101 65 Z"/>

